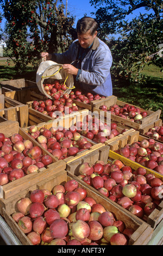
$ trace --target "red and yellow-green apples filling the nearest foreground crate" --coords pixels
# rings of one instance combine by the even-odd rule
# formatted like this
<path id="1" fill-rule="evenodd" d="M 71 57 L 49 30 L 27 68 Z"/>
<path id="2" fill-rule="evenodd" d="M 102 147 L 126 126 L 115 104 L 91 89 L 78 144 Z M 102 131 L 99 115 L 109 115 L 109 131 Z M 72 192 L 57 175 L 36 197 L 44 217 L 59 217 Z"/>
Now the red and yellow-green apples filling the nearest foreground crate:
<path id="1" fill-rule="evenodd" d="M 128 245 L 134 233 L 74 179 L 32 191 L 15 209 L 11 217 L 33 245 Z"/>

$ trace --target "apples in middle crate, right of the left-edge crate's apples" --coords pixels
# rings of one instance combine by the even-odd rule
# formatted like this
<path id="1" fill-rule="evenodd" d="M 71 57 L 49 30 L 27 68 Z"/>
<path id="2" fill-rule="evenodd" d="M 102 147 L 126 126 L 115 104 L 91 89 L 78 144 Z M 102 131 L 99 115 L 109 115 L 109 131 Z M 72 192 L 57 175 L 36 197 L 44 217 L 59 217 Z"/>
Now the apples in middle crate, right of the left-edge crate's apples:
<path id="1" fill-rule="evenodd" d="M 66 130 L 53 126 L 50 129 L 38 129 L 36 125 L 32 125 L 28 129 L 28 134 L 58 160 L 76 156 L 78 152 L 92 147 L 92 143 L 77 132 L 77 126 L 71 126 Z"/>

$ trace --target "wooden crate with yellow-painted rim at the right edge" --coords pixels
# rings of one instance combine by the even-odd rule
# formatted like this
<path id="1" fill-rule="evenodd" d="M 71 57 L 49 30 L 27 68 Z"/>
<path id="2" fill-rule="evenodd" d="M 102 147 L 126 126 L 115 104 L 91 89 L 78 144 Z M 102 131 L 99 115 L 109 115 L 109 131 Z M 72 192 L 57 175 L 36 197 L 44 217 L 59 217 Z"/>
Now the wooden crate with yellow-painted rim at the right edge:
<path id="1" fill-rule="evenodd" d="M 133 162 L 126 157 L 123 157 L 114 151 L 110 150 L 109 151 L 109 160 L 120 160 L 124 163 L 126 166 L 130 166 L 133 170 L 137 170 L 137 168 L 142 167 L 141 164 L 137 162 Z M 153 174 L 156 178 L 159 178 L 163 181 L 163 175 L 161 175 L 158 172 L 155 172 L 154 170 L 151 170 L 149 168 L 143 167 L 146 169 L 147 174 L 151 173 Z M 151 215 L 148 216 L 147 218 L 147 223 L 151 225 L 152 228 L 156 228 L 156 226 L 160 223 L 160 221 L 163 218 L 163 200 L 162 202 L 158 205 L 158 209 L 154 209 Z"/>

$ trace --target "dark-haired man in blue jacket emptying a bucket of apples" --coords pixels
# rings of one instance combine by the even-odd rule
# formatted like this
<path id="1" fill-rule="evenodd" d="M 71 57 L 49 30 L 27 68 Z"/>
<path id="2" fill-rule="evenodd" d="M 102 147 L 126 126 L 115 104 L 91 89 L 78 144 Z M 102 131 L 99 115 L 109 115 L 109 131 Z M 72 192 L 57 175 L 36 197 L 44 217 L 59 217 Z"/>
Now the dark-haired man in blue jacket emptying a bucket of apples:
<path id="1" fill-rule="evenodd" d="M 112 56 L 109 47 L 97 38 L 97 28 L 94 19 L 83 17 L 77 22 L 78 39 L 72 42 L 66 52 L 43 52 L 41 57 L 63 64 L 62 68 L 74 76 L 74 86 L 83 92 L 111 96 Z"/>

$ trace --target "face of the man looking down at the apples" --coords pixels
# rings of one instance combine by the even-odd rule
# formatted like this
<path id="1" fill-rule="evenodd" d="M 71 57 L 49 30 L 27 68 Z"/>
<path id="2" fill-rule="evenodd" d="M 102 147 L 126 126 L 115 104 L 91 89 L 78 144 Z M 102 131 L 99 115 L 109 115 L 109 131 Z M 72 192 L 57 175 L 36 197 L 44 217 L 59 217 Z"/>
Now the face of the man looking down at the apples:
<path id="1" fill-rule="evenodd" d="M 80 46 L 85 49 L 89 47 L 92 44 L 93 40 L 95 39 L 96 35 L 97 35 L 97 31 L 95 32 L 94 35 L 91 35 L 90 31 L 87 31 L 85 34 L 78 33 L 78 40 L 79 40 Z"/>

